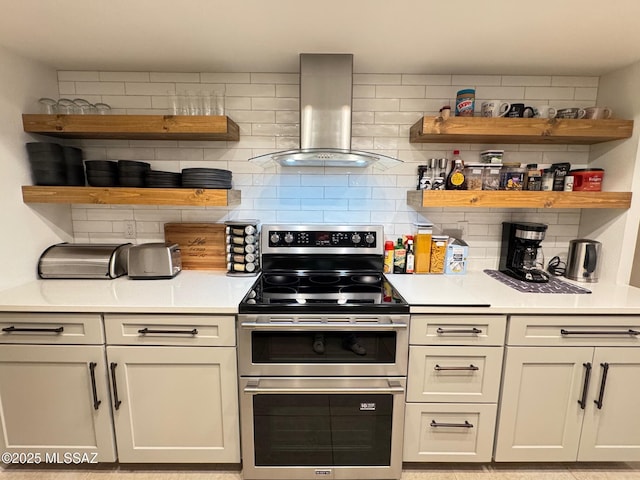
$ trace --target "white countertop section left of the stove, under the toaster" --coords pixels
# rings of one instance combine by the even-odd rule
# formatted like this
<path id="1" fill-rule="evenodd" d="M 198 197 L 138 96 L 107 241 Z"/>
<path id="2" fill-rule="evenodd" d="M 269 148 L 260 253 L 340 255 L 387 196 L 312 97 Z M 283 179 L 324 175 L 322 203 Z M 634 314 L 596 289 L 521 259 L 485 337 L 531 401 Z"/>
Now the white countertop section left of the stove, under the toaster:
<path id="1" fill-rule="evenodd" d="M 235 314 L 255 281 L 195 270 L 166 280 L 35 280 L 1 291 L 0 310 Z"/>

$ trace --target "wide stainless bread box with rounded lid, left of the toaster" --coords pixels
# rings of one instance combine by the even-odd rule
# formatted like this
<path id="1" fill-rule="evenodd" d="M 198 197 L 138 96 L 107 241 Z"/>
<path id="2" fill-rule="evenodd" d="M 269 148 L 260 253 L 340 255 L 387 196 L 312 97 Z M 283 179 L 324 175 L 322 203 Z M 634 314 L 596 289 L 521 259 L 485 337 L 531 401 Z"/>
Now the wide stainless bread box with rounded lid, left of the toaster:
<path id="1" fill-rule="evenodd" d="M 126 275 L 130 243 L 58 243 L 38 260 L 40 278 L 110 279 Z"/>

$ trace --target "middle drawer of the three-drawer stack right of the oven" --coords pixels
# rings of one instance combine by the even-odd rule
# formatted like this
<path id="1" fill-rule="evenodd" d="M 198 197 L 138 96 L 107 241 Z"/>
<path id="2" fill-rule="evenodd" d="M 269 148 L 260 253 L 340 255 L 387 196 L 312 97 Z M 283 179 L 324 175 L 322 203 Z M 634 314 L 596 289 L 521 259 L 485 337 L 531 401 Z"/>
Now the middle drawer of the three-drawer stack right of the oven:
<path id="1" fill-rule="evenodd" d="M 408 402 L 496 402 L 502 347 L 409 347 Z"/>

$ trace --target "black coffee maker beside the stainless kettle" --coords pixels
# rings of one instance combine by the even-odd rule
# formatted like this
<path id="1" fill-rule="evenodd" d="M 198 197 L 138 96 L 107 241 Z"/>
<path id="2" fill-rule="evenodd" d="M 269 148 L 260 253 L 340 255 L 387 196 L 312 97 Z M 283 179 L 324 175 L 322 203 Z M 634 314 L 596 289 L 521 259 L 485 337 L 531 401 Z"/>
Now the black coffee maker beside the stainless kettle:
<path id="1" fill-rule="evenodd" d="M 499 270 L 525 282 L 548 282 L 549 274 L 540 268 L 544 267 L 540 243 L 546 231 L 543 223 L 502 222 Z"/>

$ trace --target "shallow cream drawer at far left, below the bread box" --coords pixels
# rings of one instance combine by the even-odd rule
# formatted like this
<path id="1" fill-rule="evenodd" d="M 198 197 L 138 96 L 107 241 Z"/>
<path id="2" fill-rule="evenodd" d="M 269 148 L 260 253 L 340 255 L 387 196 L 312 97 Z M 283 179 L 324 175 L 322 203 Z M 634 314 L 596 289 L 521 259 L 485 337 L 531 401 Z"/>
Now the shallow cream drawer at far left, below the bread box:
<path id="1" fill-rule="evenodd" d="M 0 343 L 100 345 L 104 343 L 99 314 L 0 313 Z"/>

